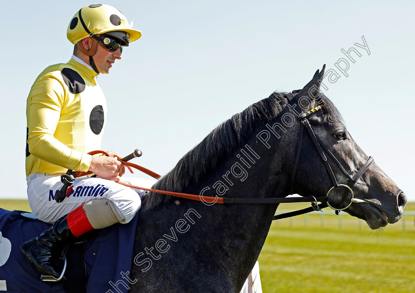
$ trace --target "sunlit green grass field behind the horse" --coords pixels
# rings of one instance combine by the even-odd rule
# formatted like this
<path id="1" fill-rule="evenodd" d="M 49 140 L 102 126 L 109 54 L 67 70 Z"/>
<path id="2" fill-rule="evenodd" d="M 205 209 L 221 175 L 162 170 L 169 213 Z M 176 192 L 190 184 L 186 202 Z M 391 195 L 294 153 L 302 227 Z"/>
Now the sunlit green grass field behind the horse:
<path id="1" fill-rule="evenodd" d="M 26 200 L 0 200 L 0 207 L 30 211 Z M 281 205 L 293 210 L 300 205 Z M 414 212 L 415 202 L 407 205 Z M 366 223 L 327 209 L 272 224 L 259 255 L 264 293 L 414 293 L 415 223 L 371 230 Z"/>

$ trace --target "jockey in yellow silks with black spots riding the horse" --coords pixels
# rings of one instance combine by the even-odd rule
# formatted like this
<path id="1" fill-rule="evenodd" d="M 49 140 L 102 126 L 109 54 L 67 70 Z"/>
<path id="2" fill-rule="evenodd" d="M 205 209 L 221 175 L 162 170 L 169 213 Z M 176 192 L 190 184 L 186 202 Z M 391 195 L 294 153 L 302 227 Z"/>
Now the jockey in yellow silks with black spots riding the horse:
<path id="1" fill-rule="evenodd" d="M 39 272 L 55 278 L 60 275 L 55 268 L 58 247 L 90 230 L 128 223 L 144 194 L 116 183 L 125 172 L 120 155 L 87 154 L 101 148 L 107 115 L 96 77 L 108 73 L 121 59 L 123 48 L 138 40 L 141 32 L 132 29 L 118 9 L 92 4 L 74 15 L 67 37 L 75 45 L 72 58 L 43 70 L 30 90 L 26 108 L 29 204 L 40 220 L 53 225 L 20 249 Z M 98 177 L 77 178 L 65 200 L 58 203 L 60 175 L 67 169 L 91 171 Z M 143 181 L 134 184 L 153 184 Z"/>

